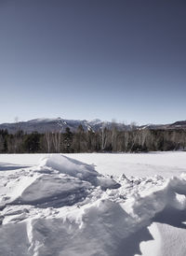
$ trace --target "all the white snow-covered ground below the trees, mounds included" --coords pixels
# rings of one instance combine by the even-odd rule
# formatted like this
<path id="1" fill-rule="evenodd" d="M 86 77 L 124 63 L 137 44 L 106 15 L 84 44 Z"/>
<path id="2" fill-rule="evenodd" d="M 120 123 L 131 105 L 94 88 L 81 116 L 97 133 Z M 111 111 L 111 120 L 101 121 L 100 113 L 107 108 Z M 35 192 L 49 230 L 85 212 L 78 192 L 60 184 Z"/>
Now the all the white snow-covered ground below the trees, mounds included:
<path id="1" fill-rule="evenodd" d="M 186 152 L 0 155 L 0 255 L 186 255 Z"/>

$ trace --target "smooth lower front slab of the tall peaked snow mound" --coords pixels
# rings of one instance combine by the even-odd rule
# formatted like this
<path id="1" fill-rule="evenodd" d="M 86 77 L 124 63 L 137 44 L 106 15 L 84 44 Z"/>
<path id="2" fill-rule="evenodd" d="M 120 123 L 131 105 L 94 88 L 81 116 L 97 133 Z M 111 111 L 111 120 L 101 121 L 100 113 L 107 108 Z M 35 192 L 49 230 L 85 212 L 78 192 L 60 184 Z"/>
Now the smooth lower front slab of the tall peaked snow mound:
<path id="1" fill-rule="evenodd" d="M 11 204 L 39 207 L 72 206 L 86 198 L 89 182 L 65 175 L 42 175 L 27 187 Z"/>

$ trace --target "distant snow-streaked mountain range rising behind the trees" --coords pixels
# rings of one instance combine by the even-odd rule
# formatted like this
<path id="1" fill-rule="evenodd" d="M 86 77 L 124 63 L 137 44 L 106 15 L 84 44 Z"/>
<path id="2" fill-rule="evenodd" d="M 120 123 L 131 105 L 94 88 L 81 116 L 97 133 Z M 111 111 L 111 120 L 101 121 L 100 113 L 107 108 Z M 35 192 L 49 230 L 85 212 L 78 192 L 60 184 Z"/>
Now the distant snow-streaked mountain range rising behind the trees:
<path id="1" fill-rule="evenodd" d="M 72 132 L 77 131 L 79 125 L 82 125 L 85 131 L 92 130 L 93 132 L 99 131 L 102 127 L 112 129 L 117 127 L 118 130 L 131 130 L 132 127 L 137 129 L 186 129 L 186 121 L 176 121 L 170 124 L 146 124 L 146 125 L 126 125 L 121 122 L 100 121 L 98 119 L 93 121 L 86 120 L 65 120 L 61 118 L 56 119 L 34 119 L 31 121 L 19 121 L 13 123 L 0 124 L 0 130 L 6 130 L 9 134 L 15 134 L 17 131 L 22 130 L 27 134 L 32 132 L 46 133 L 46 132 L 65 132 L 69 127 Z"/>

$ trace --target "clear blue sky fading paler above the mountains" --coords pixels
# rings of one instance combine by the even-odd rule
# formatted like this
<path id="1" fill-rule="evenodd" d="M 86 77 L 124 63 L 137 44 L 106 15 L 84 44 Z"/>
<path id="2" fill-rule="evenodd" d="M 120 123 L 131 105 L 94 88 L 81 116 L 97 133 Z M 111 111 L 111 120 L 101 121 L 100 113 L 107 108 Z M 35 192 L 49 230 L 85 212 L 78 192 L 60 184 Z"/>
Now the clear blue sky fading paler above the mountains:
<path id="1" fill-rule="evenodd" d="M 0 123 L 170 123 L 185 98 L 185 0 L 0 0 Z"/>

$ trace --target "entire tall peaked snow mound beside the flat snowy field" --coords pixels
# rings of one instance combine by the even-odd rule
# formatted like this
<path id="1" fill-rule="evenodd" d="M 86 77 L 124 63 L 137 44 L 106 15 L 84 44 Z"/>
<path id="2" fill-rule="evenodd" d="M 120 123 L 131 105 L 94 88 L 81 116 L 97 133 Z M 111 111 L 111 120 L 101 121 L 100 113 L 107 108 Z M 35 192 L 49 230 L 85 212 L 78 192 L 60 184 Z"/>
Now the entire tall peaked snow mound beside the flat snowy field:
<path id="1" fill-rule="evenodd" d="M 84 201 L 95 187 L 100 186 L 103 191 L 120 187 L 113 178 L 101 176 L 93 165 L 62 155 L 46 157 L 20 176 L 14 173 L 3 188 L 7 196 L 2 198 L 2 208 L 6 205 L 73 206 Z"/>

